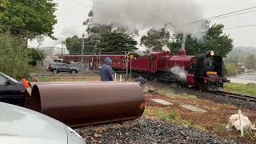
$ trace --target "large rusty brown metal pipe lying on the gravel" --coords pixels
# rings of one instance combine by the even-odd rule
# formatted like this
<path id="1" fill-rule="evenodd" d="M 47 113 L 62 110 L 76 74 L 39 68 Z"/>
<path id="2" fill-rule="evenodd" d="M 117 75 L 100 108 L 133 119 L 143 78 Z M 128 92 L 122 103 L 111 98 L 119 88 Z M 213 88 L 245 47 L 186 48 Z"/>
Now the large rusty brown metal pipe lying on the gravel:
<path id="1" fill-rule="evenodd" d="M 70 126 L 139 118 L 144 94 L 135 82 L 36 84 L 26 107 Z"/>

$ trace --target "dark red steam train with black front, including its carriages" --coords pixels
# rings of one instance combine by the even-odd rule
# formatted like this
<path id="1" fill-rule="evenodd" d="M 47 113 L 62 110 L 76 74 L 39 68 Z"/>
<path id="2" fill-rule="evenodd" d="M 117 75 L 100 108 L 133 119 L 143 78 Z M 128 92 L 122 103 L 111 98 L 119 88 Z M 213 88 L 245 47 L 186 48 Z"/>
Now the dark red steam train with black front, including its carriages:
<path id="1" fill-rule="evenodd" d="M 189 86 L 197 86 L 200 90 L 223 90 L 223 82 L 228 82 L 222 74 L 222 57 L 214 51 L 195 56 L 186 55 L 179 50 L 178 55 L 170 52 L 153 52 L 149 55 L 137 54 L 105 54 L 105 55 L 64 55 L 64 62 L 83 62 L 95 70 L 101 66 L 104 58 L 112 59 L 114 70 L 133 71 L 143 77 L 158 81 L 176 81 Z"/>

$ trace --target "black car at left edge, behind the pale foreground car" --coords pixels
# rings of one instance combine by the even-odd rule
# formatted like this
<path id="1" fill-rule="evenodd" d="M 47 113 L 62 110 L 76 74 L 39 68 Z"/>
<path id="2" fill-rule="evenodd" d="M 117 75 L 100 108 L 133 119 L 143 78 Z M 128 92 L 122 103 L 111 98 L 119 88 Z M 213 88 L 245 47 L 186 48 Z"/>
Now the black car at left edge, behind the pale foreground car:
<path id="1" fill-rule="evenodd" d="M 8 78 L 0 75 L 0 102 L 10 103 L 16 106 L 24 106 L 25 97 L 17 84 L 18 83 L 11 82 Z"/>

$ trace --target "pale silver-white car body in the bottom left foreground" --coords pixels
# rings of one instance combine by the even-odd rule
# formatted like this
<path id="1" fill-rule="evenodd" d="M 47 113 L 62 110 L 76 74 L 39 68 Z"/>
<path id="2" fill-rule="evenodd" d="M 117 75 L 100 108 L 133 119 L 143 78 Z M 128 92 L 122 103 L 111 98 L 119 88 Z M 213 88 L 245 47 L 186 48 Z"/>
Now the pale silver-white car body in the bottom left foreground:
<path id="1" fill-rule="evenodd" d="M 0 143 L 84 144 L 82 137 L 54 118 L 0 102 Z"/>

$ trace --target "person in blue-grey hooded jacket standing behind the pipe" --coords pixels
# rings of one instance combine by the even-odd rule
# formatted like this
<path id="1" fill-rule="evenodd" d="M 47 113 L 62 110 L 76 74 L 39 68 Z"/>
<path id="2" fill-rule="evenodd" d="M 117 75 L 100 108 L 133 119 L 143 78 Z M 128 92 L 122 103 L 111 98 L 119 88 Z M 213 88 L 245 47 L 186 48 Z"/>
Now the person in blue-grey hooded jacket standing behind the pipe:
<path id="1" fill-rule="evenodd" d="M 112 63 L 111 59 L 105 58 L 104 62 L 105 63 L 102 65 L 102 68 L 100 70 L 101 81 L 103 82 L 114 81 L 114 78 L 113 78 L 114 71 L 111 67 L 111 63 Z"/>

